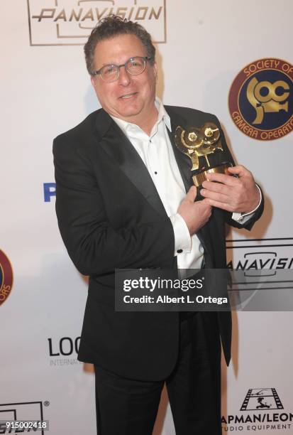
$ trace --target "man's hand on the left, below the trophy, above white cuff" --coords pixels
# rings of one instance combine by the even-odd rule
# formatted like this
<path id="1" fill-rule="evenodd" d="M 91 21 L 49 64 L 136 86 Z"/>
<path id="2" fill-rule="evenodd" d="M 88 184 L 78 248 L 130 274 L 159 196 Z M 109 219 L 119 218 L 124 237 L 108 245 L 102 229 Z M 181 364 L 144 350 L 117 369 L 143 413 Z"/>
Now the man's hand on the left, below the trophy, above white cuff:
<path id="1" fill-rule="evenodd" d="M 211 205 L 209 205 L 209 200 L 204 199 L 194 203 L 196 196 L 197 188 L 192 186 L 177 210 L 177 213 L 179 213 L 186 222 L 190 235 L 193 235 L 203 227 L 211 217 Z"/>

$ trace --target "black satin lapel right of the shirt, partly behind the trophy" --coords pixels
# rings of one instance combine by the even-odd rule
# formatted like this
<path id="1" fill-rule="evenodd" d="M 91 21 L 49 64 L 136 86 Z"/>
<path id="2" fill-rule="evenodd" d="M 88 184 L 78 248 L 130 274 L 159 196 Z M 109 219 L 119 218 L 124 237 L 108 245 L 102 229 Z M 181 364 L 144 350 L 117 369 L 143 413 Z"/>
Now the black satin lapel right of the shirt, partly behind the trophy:
<path id="1" fill-rule="evenodd" d="M 193 185 L 192 174 L 190 172 L 192 162 L 188 156 L 185 156 L 184 154 L 182 154 L 181 151 L 179 151 L 179 149 L 177 149 L 177 146 L 175 145 L 174 134 L 175 134 L 175 130 L 178 126 L 187 128 L 187 127 L 190 127 L 190 124 L 187 122 L 187 119 L 180 117 L 177 113 L 175 113 L 172 110 L 172 108 L 165 107 L 165 109 L 171 118 L 172 131 L 168 130 L 170 142 L 171 142 L 172 147 L 173 147 L 175 159 L 177 161 L 177 165 L 178 165 L 179 171 L 180 171 L 181 176 L 182 176 L 185 190 L 188 191 L 189 188 Z M 193 122 L 193 125 L 197 125 L 196 119 L 194 119 L 194 121 L 192 121 L 192 122 Z M 212 241 L 211 241 L 211 236 L 209 233 L 209 228 L 207 225 L 204 225 L 204 227 L 202 227 L 197 232 L 197 237 L 199 237 L 199 241 L 201 242 L 201 245 L 203 245 L 206 253 L 211 254 L 211 252 L 213 252 L 213 249 L 211 246 Z"/>

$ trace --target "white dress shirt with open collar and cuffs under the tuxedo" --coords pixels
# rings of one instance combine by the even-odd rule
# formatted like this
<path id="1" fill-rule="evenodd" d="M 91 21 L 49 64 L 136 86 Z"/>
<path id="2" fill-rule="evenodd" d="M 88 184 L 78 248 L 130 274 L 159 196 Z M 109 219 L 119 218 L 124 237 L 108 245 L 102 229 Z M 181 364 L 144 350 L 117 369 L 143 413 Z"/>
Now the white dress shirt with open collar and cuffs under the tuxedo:
<path id="1" fill-rule="evenodd" d="M 204 247 L 196 234 L 190 236 L 184 219 L 177 213 L 186 191 L 167 133 L 167 129 L 172 131 L 170 117 L 158 98 L 155 100 L 155 105 L 158 116 L 150 136 L 136 124 L 116 117 L 112 118 L 131 141 L 148 168 L 157 193 L 160 195 L 162 204 L 172 222 L 175 235 L 174 255 L 177 256 L 178 269 L 200 269 L 204 258 Z M 241 220 L 241 213 L 235 213 L 235 215 L 233 218 Z M 250 213 L 247 218 L 246 215 L 248 214 L 245 214 L 245 220 L 250 218 Z M 241 223 L 244 222 L 244 220 L 241 221 Z"/>

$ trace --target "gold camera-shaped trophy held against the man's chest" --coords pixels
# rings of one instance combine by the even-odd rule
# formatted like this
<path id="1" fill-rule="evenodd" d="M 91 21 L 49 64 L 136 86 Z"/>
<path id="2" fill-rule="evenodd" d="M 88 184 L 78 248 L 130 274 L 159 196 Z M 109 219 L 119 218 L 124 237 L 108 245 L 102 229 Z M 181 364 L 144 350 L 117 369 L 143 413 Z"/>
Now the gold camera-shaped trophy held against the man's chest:
<path id="1" fill-rule="evenodd" d="M 211 166 L 209 156 L 223 152 L 220 139 L 220 130 L 213 122 L 206 122 L 202 127 L 189 127 L 184 130 L 177 127 L 175 130 L 175 144 L 179 151 L 192 161 L 192 180 L 198 188 L 207 180 L 209 173 L 228 173 L 231 162 L 223 161 L 216 166 Z"/>

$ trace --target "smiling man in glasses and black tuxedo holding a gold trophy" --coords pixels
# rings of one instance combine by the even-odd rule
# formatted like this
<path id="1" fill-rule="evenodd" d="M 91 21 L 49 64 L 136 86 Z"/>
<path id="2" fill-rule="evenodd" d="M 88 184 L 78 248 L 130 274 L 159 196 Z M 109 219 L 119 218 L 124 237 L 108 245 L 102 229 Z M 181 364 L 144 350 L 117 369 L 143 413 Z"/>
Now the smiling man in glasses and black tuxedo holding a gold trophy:
<path id="1" fill-rule="evenodd" d="M 194 202 L 175 128 L 219 122 L 155 100 L 144 28 L 109 16 L 84 52 L 102 109 L 58 136 L 53 151 L 60 232 L 89 275 L 79 359 L 95 365 L 98 434 L 150 435 L 164 382 L 178 435 L 221 434 L 220 335 L 228 363 L 230 313 L 114 311 L 114 270 L 226 267 L 224 224 L 249 229 L 262 213 L 260 190 L 235 166 L 238 178 L 211 175 Z M 233 161 L 221 135 L 221 161 Z"/>

